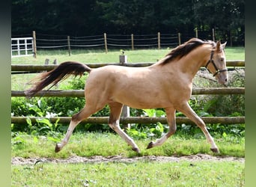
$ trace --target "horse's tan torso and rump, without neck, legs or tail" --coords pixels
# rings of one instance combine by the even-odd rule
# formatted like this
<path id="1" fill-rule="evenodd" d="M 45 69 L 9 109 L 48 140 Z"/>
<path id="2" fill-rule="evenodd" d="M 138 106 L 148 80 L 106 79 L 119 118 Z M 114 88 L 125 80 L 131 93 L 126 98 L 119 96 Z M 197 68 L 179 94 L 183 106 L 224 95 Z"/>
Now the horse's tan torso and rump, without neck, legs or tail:
<path id="1" fill-rule="evenodd" d="M 132 108 L 165 107 L 168 105 L 168 93 L 162 80 L 154 75 L 156 73 L 148 67 L 100 67 L 91 71 L 85 97 L 121 102 Z"/>

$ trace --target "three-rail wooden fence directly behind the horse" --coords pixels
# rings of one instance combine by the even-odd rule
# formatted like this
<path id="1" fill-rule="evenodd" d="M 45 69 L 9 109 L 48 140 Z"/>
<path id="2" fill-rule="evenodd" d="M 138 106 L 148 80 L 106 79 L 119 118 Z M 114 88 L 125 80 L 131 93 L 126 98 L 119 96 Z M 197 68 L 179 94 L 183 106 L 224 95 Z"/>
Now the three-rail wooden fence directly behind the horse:
<path id="1" fill-rule="evenodd" d="M 138 64 L 117 64 L 129 67 L 147 67 L 153 63 L 138 63 Z M 109 64 L 87 64 L 89 67 L 97 68 Z M 49 71 L 57 65 L 11 65 L 12 73 L 38 73 L 42 71 Z M 245 61 L 227 61 L 227 67 L 244 67 Z M 193 88 L 192 95 L 198 94 L 245 94 L 245 88 Z M 11 96 L 25 96 L 24 91 L 11 91 Z M 40 91 L 36 96 L 84 96 L 83 90 L 72 91 Z M 11 117 L 11 123 L 26 123 L 27 117 Z M 30 117 L 32 123 L 42 117 Z M 58 123 L 69 123 L 71 117 L 49 117 L 52 123 L 59 120 Z M 109 117 L 88 117 L 82 123 L 108 123 Z M 236 124 L 245 123 L 245 117 L 202 117 L 205 123 L 223 123 L 223 124 Z M 177 124 L 192 123 L 187 117 L 177 117 Z M 166 117 L 121 117 L 120 123 L 167 123 Z"/>

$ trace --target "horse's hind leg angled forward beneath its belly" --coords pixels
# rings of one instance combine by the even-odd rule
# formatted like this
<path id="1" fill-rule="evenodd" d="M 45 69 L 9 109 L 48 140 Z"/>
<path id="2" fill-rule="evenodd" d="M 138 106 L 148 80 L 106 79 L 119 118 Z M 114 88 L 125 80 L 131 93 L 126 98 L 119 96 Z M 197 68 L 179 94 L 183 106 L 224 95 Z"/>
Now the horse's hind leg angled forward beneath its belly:
<path id="1" fill-rule="evenodd" d="M 132 138 L 129 137 L 119 126 L 119 119 L 121 116 L 123 104 L 120 102 L 111 102 L 109 103 L 110 108 L 110 116 L 109 116 L 109 126 L 115 130 L 115 132 L 118 133 L 118 135 L 121 136 L 121 138 L 124 139 L 124 141 L 127 142 L 130 146 L 132 146 L 132 150 L 139 153 L 138 146 L 135 144 L 135 142 L 132 140 Z"/>

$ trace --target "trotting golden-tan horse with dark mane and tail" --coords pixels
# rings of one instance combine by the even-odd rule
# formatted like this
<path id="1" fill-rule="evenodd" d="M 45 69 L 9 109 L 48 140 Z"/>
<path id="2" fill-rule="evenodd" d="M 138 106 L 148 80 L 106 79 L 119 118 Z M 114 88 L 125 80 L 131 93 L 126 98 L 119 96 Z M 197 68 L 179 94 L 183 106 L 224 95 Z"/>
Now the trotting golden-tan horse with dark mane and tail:
<path id="1" fill-rule="evenodd" d="M 85 106 L 70 120 L 66 135 L 55 145 L 58 153 L 69 141 L 76 126 L 91 114 L 109 105 L 109 126 L 137 153 L 138 146 L 119 126 L 123 105 L 131 108 L 163 108 L 168 121 L 168 132 L 156 141 L 151 141 L 147 149 L 162 145 L 176 132 L 175 112 L 189 117 L 210 144 L 213 153 L 219 153 L 213 137 L 203 120 L 189 106 L 192 95 L 192 80 L 201 67 L 206 67 L 222 85 L 228 84 L 228 70 L 225 58 L 225 43 L 220 41 L 192 38 L 172 49 L 164 58 L 148 67 L 124 67 L 107 65 L 90 68 L 77 61 L 65 61 L 55 69 L 40 74 L 34 86 L 25 91 L 26 96 L 34 96 L 48 85 L 56 85 L 68 76 L 83 76 L 89 73 L 85 85 Z"/>

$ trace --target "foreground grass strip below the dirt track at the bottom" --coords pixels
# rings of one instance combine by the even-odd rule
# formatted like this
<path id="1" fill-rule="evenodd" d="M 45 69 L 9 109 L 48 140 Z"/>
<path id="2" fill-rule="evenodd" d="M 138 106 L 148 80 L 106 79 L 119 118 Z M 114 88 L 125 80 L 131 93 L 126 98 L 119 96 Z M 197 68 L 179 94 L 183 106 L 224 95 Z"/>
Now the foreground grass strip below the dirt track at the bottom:
<path id="1" fill-rule="evenodd" d="M 11 186 L 244 186 L 242 162 L 13 165 Z"/>

